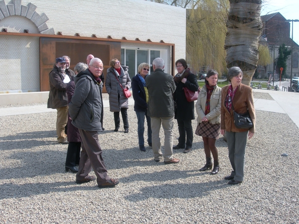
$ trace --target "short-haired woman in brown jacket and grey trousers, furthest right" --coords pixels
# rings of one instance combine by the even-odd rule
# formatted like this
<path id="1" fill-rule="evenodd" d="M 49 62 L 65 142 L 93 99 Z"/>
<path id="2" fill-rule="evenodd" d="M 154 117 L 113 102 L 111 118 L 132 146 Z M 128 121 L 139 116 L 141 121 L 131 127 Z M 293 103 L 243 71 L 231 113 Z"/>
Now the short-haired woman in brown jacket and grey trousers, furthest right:
<path id="1" fill-rule="evenodd" d="M 220 133 L 226 131 L 228 156 L 232 165 L 232 172 L 224 179 L 230 180 L 228 184 L 239 184 L 244 179 L 245 148 L 247 136 L 253 137 L 255 132 L 255 109 L 252 89 L 241 83 L 243 72 L 239 67 L 228 70 L 230 85 L 222 88 L 221 95 L 221 127 Z M 249 112 L 253 122 L 251 128 L 237 128 L 234 123 L 233 108 L 235 112 L 244 114 Z"/>

